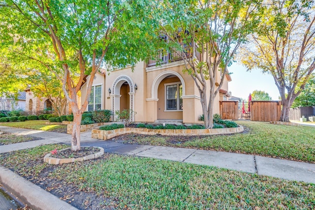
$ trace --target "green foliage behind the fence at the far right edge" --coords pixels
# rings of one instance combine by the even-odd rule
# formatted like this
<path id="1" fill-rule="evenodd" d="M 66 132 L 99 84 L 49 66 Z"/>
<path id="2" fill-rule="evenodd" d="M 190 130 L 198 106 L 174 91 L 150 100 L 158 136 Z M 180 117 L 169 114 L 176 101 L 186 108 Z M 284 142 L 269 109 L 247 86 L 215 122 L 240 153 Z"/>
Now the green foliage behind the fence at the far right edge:
<path id="1" fill-rule="evenodd" d="M 292 104 L 292 108 L 298 106 L 315 106 L 315 77 L 305 84 L 304 90 L 296 97 Z"/>

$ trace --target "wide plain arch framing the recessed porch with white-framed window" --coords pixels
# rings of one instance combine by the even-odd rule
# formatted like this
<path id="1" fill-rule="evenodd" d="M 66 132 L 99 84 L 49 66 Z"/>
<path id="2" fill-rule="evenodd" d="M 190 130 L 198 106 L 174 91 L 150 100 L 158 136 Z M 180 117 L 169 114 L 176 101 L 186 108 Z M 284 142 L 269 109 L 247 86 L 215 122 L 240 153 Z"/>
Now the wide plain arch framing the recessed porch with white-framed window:
<path id="1" fill-rule="evenodd" d="M 160 73 L 153 82 L 152 96 L 157 100 L 158 120 L 183 120 L 185 82 L 178 72 Z"/>

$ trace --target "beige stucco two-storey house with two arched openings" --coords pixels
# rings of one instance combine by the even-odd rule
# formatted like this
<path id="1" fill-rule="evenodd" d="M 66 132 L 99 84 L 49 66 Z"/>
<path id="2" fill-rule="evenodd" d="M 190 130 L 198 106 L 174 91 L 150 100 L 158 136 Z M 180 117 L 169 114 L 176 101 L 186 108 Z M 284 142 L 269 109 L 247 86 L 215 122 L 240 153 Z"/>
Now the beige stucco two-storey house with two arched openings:
<path id="1" fill-rule="evenodd" d="M 202 106 L 198 88 L 191 76 L 183 72 L 184 61 L 169 58 L 170 54 L 161 57 L 161 65 L 153 60 L 139 62 L 133 71 L 129 66 L 109 74 L 106 70 L 96 73 L 87 111 L 131 109 L 136 113 L 132 119 L 135 122 L 176 120 L 200 123 Z M 215 99 L 214 113 L 220 113 L 219 101 L 230 97 L 228 82 L 231 77 L 229 74 L 224 77 L 220 94 Z M 86 83 L 90 79 L 89 76 Z M 220 79 L 219 74 L 218 83 Z M 86 100 L 86 83 L 81 88 L 81 104 Z"/>

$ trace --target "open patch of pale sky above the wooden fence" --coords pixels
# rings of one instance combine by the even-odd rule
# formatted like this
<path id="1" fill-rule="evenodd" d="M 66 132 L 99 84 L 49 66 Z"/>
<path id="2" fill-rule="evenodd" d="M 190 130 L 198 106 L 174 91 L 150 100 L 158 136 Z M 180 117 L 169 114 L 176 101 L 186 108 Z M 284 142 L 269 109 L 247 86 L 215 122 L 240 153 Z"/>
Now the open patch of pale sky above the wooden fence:
<path id="1" fill-rule="evenodd" d="M 272 75 L 262 73 L 261 70 L 246 71 L 246 67 L 238 63 L 234 63 L 228 70 L 232 73 L 232 81 L 228 83 L 232 96 L 248 99 L 252 91 L 262 90 L 268 93 L 272 100 L 279 100 L 280 94 Z"/>

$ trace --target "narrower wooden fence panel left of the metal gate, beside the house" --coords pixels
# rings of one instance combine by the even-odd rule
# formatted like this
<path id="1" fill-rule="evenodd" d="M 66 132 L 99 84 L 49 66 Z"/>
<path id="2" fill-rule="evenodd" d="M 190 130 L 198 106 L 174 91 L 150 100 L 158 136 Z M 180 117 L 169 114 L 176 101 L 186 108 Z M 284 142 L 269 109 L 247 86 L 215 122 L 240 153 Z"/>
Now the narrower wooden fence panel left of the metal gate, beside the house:
<path id="1" fill-rule="evenodd" d="M 220 102 L 221 119 L 238 119 L 238 101 L 221 101 Z"/>

